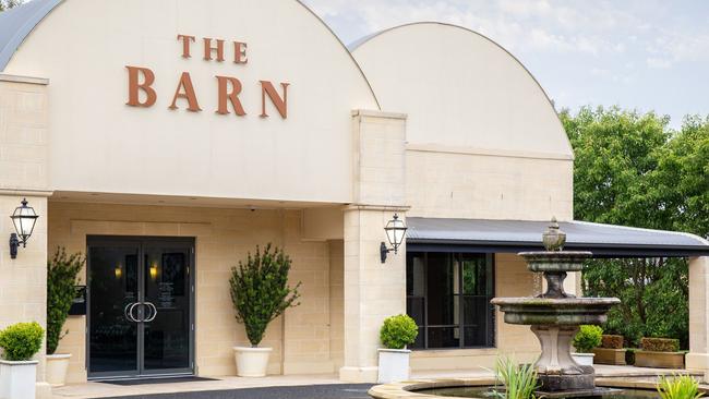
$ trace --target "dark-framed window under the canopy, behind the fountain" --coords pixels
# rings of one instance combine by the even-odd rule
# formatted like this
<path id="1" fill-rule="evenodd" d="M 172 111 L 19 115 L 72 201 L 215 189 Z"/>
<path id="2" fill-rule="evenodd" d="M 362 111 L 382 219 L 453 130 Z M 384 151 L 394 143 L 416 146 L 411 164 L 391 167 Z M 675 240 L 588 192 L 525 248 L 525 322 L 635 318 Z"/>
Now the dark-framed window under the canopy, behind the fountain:
<path id="1" fill-rule="evenodd" d="M 492 254 L 409 252 L 406 310 L 419 326 L 412 348 L 494 347 Z"/>

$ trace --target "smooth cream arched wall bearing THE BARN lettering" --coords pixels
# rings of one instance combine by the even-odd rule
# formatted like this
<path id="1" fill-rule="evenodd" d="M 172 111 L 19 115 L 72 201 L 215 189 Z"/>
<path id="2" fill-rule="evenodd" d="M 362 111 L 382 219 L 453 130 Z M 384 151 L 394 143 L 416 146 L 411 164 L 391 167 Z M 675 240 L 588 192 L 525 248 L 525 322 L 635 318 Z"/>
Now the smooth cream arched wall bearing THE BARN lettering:
<path id="1" fill-rule="evenodd" d="M 178 34 L 196 36 L 181 57 Z M 202 37 L 227 61 L 202 59 Z M 229 62 L 248 43 L 245 65 Z M 134 108 L 124 65 L 151 68 L 157 102 Z M 169 110 L 182 72 L 203 111 Z M 5 73 L 50 80 L 49 186 L 82 192 L 351 200 L 350 110 L 378 109 L 351 56 L 295 0 L 65 0 Z M 247 116 L 215 113 L 215 75 L 241 80 Z M 259 81 L 288 82 L 288 119 L 260 118 Z"/>

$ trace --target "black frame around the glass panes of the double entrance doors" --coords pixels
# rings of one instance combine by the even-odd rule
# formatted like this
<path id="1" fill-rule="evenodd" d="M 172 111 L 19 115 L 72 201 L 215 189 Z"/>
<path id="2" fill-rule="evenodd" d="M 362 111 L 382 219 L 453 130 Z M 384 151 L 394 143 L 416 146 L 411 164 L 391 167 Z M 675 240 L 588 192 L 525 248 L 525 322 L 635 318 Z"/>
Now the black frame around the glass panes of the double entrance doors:
<path id="1" fill-rule="evenodd" d="M 136 364 L 137 370 L 125 371 L 125 372 L 99 372 L 91 373 L 91 247 L 92 246 L 110 246 L 110 245 L 135 245 L 139 250 L 139 263 L 137 263 L 137 301 L 144 301 L 144 279 L 145 279 L 145 265 L 144 253 L 146 244 L 167 244 L 167 245 L 183 245 L 189 247 L 189 265 L 188 265 L 188 275 L 190 278 L 190 325 L 189 325 L 189 367 L 187 368 L 171 368 L 171 370 L 151 370 L 145 371 L 144 366 L 144 341 L 145 341 L 145 323 L 137 323 L 137 349 L 136 349 Z M 195 276 L 196 276 L 196 263 L 195 263 L 195 239 L 193 237 L 159 237 L 159 235 L 86 235 L 86 346 L 85 346 L 85 367 L 87 372 L 87 379 L 120 379 L 120 378 L 149 378 L 158 376 L 175 376 L 175 375 L 194 375 L 194 352 L 195 352 Z M 139 306 L 137 312 L 144 312 Z"/>

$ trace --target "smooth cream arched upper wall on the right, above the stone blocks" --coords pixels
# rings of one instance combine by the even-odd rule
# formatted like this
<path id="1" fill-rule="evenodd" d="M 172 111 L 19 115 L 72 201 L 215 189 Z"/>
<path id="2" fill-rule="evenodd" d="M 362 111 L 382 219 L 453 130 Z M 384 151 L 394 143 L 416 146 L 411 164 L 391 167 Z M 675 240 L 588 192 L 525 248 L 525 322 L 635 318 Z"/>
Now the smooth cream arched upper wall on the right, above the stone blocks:
<path id="1" fill-rule="evenodd" d="M 353 49 L 385 110 L 409 114 L 409 144 L 572 157 L 542 88 L 507 51 L 465 28 L 395 27 Z"/>

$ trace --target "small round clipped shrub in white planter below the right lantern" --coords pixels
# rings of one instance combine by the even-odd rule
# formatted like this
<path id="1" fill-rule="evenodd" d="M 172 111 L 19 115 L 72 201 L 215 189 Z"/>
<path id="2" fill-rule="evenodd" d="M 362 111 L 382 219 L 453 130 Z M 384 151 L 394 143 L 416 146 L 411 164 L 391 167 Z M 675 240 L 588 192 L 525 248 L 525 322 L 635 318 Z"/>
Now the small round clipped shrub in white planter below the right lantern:
<path id="1" fill-rule="evenodd" d="M 378 349 L 378 383 L 388 384 L 409 379 L 408 344 L 416 341 L 419 327 L 413 318 L 405 314 L 384 319 L 380 329 L 380 340 L 384 348 Z"/>

